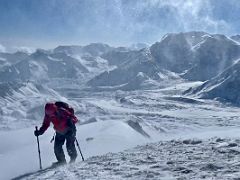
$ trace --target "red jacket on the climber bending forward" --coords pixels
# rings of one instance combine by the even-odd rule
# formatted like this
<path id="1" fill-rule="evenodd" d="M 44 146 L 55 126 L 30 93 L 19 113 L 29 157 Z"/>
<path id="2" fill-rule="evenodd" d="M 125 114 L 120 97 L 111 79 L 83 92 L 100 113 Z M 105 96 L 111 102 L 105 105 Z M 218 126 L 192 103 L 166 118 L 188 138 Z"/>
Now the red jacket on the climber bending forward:
<path id="1" fill-rule="evenodd" d="M 53 123 L 54 129 L 57 132 L 65 133 L 67 132 L 68 129 L 70 129 L 69 124 L 71 123 L 76 124 L 78 122 L 78 119 L 74 114 L 72 114 L 68 110 L 64 108 L 58 108 L 57 112 L 54 113 L 54 115 L 52 116 L 48 116 L 45 114 L 40 131 L 44 133 L 50 126 L 51 122 Z"/>

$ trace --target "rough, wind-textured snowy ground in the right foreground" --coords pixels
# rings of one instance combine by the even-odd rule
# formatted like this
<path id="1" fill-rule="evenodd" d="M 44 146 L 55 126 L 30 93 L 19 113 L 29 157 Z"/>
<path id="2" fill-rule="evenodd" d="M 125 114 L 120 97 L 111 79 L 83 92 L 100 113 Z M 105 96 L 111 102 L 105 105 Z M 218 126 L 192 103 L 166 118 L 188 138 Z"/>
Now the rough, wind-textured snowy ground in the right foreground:
<path id="1" fill-rule="evenodd" d="M 16 179 L 238 179 L 240 142 L 161 141 Z"/>

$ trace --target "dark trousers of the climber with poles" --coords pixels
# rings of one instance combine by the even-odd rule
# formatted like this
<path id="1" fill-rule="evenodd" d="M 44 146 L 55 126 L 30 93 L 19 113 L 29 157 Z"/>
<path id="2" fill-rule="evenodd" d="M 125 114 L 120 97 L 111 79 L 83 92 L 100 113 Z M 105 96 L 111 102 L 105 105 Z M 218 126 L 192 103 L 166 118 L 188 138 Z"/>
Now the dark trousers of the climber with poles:
<path id="1" fill-rule="evenodd" d="M 71 161 L 75 161 L 77 158 L 77 150 L 75 147 L 76 131 L 68 131 L 66 134 L 60 134 L 56 132 L 55 142 L 54 142 L 54 153 L 58 162 L 66 162 L 63 144 L 66 140 L 66 147 L 68 155 L 71 158 Z"/>

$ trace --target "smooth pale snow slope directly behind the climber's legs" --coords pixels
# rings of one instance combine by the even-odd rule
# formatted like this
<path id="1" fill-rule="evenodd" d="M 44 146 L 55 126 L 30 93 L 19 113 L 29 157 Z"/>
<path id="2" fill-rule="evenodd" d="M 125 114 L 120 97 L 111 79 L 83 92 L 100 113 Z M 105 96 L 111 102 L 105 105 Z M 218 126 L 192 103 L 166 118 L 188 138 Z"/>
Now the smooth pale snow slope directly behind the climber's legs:
<path id="1" fill-rule="evenodd" d="M 119 152 L 148 141 L 127 123 L 119 121 L 85 124 L 77 129 L 77 138 L 85 158 L 107 152 Z M 2 138 L 0 169 L 1 172 L 4 172 L 0 174 L 0 179 L 10 179 L 39 169 L 37 141 L 33 131 L 34 128 L 27 128 L 0 132 Z M 43 168 L 56 161 L 53 144 L 50 143 L 53 134 L 54 132 L 50 128 L 43 136 L 40 136 Z M 80 155 L 78 161 L 81 161 Z"/>

